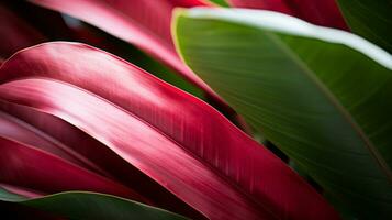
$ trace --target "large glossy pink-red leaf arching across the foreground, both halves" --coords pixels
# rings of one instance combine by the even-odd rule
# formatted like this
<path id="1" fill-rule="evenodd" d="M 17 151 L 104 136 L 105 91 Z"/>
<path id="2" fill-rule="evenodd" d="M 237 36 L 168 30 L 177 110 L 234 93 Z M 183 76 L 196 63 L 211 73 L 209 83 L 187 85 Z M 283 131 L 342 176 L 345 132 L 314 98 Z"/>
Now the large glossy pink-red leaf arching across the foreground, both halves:
<path id="1" fill-rule="evenodd" d="M 217 111 L 115 56 L 44 44 L 7 61 L 0 81 L 2 99 L 83 130 L 211 219 L 338 218 Z"/>

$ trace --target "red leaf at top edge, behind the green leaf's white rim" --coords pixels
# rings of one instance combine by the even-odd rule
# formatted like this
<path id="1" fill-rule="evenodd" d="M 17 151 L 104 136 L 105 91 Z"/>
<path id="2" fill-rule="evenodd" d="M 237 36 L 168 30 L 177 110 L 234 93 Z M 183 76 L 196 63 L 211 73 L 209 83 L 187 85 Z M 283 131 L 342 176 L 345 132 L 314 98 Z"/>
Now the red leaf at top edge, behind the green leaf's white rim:
<path id="1" fill-rule="evenodd" d="M 228 0 L 234 7 L 265 9 L 293 16 L 311 23 L 348 30 L 335 0 Z"/>

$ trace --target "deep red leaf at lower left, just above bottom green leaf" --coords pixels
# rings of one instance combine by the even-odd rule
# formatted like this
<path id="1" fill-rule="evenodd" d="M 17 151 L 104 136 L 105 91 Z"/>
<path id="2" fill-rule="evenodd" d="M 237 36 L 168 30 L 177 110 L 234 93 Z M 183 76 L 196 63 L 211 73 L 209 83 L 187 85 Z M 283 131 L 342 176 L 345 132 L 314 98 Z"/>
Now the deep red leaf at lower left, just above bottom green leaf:
<path id="1" fill-rule="evenodd" d="M 35 190 L 45 193 L 93 190 L 141 199 L 120 184 L 33 146 L 0 136 L 0 182 L 3 184 L 26 188 L 34 186 Z"/>

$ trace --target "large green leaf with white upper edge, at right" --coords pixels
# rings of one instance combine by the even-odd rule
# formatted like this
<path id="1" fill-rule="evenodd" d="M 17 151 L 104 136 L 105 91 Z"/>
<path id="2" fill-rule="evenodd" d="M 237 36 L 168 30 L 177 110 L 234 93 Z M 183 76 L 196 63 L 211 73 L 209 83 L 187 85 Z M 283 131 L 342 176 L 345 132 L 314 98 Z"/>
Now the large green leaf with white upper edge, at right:
<path id="1" fill-rule="evenodd" d="M 392 56 L 268 11 L 177 11 L 186 63 L 361 218 L 392 215 Z"/>

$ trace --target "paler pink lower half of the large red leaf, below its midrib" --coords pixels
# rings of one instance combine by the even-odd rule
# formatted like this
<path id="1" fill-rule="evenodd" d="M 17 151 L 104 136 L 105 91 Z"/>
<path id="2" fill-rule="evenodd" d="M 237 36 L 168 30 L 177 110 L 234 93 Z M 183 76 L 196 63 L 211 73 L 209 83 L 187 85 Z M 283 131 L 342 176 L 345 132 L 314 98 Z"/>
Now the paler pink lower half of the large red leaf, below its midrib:
<path id="1" fill-rule="evenodd" d="M 80 89 L 51 80 L 25 79 L 2 85 L 0 92 L 7 100 L 32 108 L 41 107 L 77 124 L 201 212 L 215 209 L 213 213 L 206 212 L 210 218 L 273 218 L 269 210 L 258 208 L 257 204 L 210 170 L 208 165 L 187 154 L 149 124 Z M 26 92 L 32 99 L 27 98 Z M 190 175 L 200 180 L 189 182 Z M 220 208 L 221 204 L 225 204 L 225 207 Z"/>

